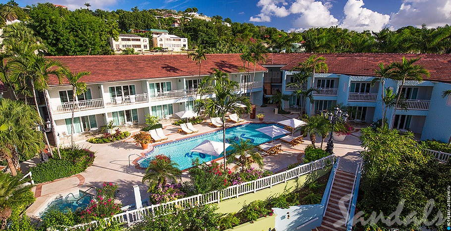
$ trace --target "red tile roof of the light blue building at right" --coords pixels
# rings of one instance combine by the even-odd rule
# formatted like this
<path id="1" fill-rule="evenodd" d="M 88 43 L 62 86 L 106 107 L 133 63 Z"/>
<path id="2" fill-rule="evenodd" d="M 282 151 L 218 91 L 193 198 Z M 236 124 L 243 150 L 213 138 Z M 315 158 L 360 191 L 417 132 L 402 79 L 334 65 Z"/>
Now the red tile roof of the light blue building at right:
<path id="1" fill-rule="evenodd" d="M 263 65 L 286 64 L 283 70 L 290 70 L 299 62 L 311 56 L 310 53 L 303 54 L 269 54 L 267 61 Z M 430 81 L 451 83 L 451 55 L 439 54 L 387 54 L 387 53 L 350 53 L 350 54 L 317 54 L 326 58 L 329 73 L 346 74 L 354 76 L 374 76 L 377 64 L 386 64 L 400 61 L 402 57 L 421 57 L 416 62 L 426 68 L 431 77 Z M 426 80 L 426 79 L 425 79 Z"/>

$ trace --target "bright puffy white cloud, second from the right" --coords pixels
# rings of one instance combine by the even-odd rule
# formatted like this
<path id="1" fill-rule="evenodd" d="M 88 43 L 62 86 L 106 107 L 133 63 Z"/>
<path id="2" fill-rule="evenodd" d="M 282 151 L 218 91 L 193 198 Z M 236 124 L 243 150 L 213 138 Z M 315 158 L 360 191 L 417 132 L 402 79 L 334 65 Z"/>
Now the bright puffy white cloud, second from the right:
<path id="1" fill-rule="evenodd" d="M 390 15 L 372 11 L 363 5 L 363 0 L 348 0 L 343 8 L 344 19 L 339 26 L 358 32 L 380 31 L 389 23 Z"/>

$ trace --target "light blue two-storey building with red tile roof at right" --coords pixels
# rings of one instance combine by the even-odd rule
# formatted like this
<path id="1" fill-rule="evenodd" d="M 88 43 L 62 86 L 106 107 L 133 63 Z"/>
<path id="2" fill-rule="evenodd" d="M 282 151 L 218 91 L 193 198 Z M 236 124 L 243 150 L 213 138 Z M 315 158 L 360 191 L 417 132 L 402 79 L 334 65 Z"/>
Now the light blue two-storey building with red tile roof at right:
<path id="1" fill-rule="evenodd" d="M 277 91 L 291 95 L 283 108 L 314 115 L 336 105 L 350 109 L 350 119 L 371 123 L 382 118 L 382 91 L 390 88 L 396 93 L 401 81 L 387 80 L 371 84 L 377 64 L 400 61 L 402 57 L 421 57 L 415 64 L 429 70 L 431 76 L 424 81 L 406 81 L 401 89 L 407 110 L 389 108 L 389 124 L 401 131 L 412 131 L 418 139 L 437 139 L 448 142 L 451 136 L 451 96 L 442 97 L 451 89 L 451 56 L 437 54 L 321 54 L 326 58 L 328 73 L 316 73 L 302 89 L 315 88 L 313 101 L 294 96 L 298 90 L 288 86 L 293 81 L 291 71 L 299 62 L 312 54 L 270 54 L 262 65 L 268 68 L 264 77 L 264 101 Z M 395 115 L 393 114 L 395 111 Z"/>

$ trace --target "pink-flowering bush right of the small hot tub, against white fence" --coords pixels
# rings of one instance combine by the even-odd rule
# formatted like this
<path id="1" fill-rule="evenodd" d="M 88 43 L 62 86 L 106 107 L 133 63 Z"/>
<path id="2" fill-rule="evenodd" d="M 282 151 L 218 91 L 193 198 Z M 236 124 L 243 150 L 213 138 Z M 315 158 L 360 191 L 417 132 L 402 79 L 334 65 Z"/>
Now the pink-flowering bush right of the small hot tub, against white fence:
<path id="1" fill-rule="evenodd" d="M 120 207 L 121 204 L 114 203 L 114 199 L 98 195 L 96 200 L 92 199 L 88 207 L 80 212 L 80 219 L 88 222 L 111 217 L 121 212 Z"/>

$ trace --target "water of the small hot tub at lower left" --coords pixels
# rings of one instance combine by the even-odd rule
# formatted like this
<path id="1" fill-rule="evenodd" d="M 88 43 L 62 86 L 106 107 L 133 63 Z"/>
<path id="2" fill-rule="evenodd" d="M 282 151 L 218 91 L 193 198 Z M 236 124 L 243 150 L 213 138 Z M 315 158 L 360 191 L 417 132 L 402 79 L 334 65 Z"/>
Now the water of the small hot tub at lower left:
<path id="1" fill-rule="evenodd" d="M 69 193 L 65 196 L 58 196 L 50 202 L 39 215 L 41 217 L 45 216 L 46 212 L 50 210 L 67 211 L 69 209 L 72 212 L 75 212 L 77 209 L 85 209 L 91 199 L 91 194 L 82 191 Z"/>

